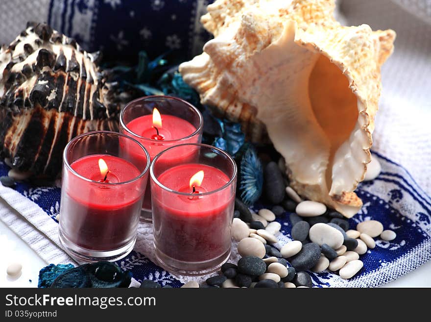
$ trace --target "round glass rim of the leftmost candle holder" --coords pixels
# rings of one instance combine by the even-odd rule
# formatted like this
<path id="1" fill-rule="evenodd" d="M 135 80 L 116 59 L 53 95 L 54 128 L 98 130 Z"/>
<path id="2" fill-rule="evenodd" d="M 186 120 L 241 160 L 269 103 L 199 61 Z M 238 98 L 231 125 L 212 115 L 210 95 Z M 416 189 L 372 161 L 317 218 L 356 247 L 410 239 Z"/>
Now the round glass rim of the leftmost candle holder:
<path id="1" fill-rule="evenodd" d="M 72 143 L 76 142 L 78 139 L 80 139 L 80 138 L 82 138 L 84 136 L 87 136 L 87 135 L 104 134 L 104 133 L 105 134 L 114 134 L 114 135 L 117 135 L 117 136 L 121 136 L 121 137 L 126 138 L 127 140 L 131 140 L 134 143 L 138 144 L 138 146 L 144 150 L 145 157 L 146 157 L 146 160 L 147 160 L 144 171 L 142 171 L 138 176 L 134 177 L 133 179 L 130 179 L 130 180 L 127 180 L 127 181 L 121 181 L 121 182 L 100 182 L 100 181 L 95 181 L 95 180 L 89 179 L 89 178 L 87 178 L 87 177 L 85 177 L 85 176 L 77 173 L 75 170 L 73 170 L 71 164 L 69 163 L 69 161 L 67 159 L 67 155 L 66 155 L 66 152 L 70 148 L 70 146 L 72 145 Z M 91 154 L 89 154 L 89 155 L 91 155 Z M 93 182 L 93 183 L 107 185 L 107 186 L 119 186 L 119 185 L 123 185 L 123 184 L 132 183 L 134 181 L 137 181 L 137 180 L 141 179 L 148 172 L 148 170 L 150 168 L 150 163 L 151 163 L 150 162 L 150 155 L 149 155 L 148 151 L 144 148 L 144 146 L 141 143 L 139 143 L 138 140 L 135 140 L 134 138 L 132 138 L 132 137 L 130 137 L 128 135 L 125 135 L 125 134 L 122 134 L 122 133 L 119 133 L 119 132 L 113 132 L 113 131 L 90 131 L 90 132 L 85 132 L 85 133 L 82 133 L 82 134 L 80 134 L 78 136 L 75 136 L 71 141 L 68 142 L 68 144 L 66 145 L 66 147 L 63 150 L 63 162 L 66 165 L 66 168 L 73 175 L 79 177 L 80 179 L 85 180 L 87 182 Z"/>

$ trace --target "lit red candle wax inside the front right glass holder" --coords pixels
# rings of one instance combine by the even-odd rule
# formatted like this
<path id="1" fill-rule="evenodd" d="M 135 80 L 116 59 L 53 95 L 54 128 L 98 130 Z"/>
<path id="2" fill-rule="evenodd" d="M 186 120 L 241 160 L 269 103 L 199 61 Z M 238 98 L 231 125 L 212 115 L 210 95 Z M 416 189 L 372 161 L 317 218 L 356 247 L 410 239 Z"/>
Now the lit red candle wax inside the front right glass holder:
<path id="1" fill-rule="evenodd" d="M 230 178 L 215 167 L 193 163 L 166 170 L 158 181 L 174 190 L 164 193 L 162 187 L 152 186 L 154 243 L 162 261 L 196 263 L 193 268 L 199 270 L 197 263 L 205 262 L 205 269 L 208 261 L 228 254 L 234 193 L 206 193 L 222 188 Z"/>

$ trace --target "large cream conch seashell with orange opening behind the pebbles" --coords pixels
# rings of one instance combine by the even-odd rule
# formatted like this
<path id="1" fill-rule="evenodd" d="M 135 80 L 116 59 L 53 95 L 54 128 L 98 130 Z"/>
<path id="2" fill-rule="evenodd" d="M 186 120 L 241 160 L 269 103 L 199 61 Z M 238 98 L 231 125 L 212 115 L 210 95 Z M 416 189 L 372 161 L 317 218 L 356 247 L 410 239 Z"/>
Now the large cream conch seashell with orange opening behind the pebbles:
<path id="1" fill-rule="evenodd" d="M 215 38 L 180 72 L 252 141 L 266 129 L 300 195 L 351 217 L 395 32 L 341 26 L 334 2 L 217 0 L 201 18 Z"/>

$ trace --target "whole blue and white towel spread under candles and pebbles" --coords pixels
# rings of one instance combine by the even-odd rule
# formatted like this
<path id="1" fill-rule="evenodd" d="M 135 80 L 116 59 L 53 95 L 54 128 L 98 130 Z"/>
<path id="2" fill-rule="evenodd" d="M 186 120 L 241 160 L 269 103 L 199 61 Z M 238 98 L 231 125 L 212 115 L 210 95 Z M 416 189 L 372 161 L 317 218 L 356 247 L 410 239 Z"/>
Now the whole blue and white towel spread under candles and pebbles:
<path id="1" fill-rule="evenodd" d="M 343 280 L 331 272 L 311 273 L 315 286 L 379 286 L 431 259 L 431 198 L 402 166 L 378 153 L 373 153 L 373 157 L 382 164 L 382 173 L 375 180 L 359 185 L 357 192 L 364 206 L 350 219 L 350 224 L 355 227 L 365 220 L 378 220 L 385 229 L 394 230 L 397 237 L 390 242 L 377 239 L 376 248 L 360 257 L 364 262 L 363 269 L 350 280 Z M 0 163 L 0 175 L 5 175 L 8 170 L 8 166 Z M 18 183 L 15 189 L 0 186 L 0 197 L 24 217 L 0 213 L 0 220 L 22 236 L 42 258 L 54 263 L 72 262 L 58 247 L 56 216 L 59 214 L 60 188 Z M 282 225 L 277 235 L 278 248 L 291 240 L 288 215 L 286 213 L 277 218 Z M 239 255 L 235 244 L 232 250 L 231 261 L 237 262 Z M 152 226 L 141 223 L 136 246 L 128 256 L 117 262 L 120 267 L 131 271 L 138 282 L 151 279 L 161 285 L 179 287 L 192 279 L 174 277 L 155 265 L 153 260 Z"/>

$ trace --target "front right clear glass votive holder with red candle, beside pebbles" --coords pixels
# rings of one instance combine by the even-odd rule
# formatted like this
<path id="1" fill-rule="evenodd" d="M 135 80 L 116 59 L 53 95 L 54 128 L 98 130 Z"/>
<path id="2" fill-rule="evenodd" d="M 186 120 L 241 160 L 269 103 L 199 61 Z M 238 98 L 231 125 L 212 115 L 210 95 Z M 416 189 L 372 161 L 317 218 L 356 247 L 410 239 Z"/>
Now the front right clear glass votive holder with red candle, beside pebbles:
<path id="1" fill-rule="evenodd" d="M 184 151 L 193 158 L 166 162 Z M 223 150 L 184 144 L 150 166 L 154 248 L 160 265 L 180 275 L 215 272 L 230 256 L 237 165 Z"/>

